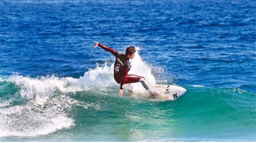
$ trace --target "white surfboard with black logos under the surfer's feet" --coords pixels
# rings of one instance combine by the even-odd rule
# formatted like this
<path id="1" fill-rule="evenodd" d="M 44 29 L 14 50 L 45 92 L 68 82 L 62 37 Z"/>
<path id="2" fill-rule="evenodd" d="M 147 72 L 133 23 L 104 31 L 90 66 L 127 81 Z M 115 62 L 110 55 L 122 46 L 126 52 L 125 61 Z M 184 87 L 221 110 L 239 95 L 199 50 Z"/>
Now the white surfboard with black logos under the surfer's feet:
<path id="1" fill-rule="evenodd" d="M 158 93 L 158 96 L 154 99 L 161 101 L 175 100 L 187 91 L 185 88 L 175 85 L 152 85 L 151 88 L 154 92 Z M 147 92 L 145 89 L 143 91 Z M 141 90 L 132 90 L 132 93 L 129 93 L 128 90 L 124 90 L 124 92 L 135 95 L 141 94 Z"/>

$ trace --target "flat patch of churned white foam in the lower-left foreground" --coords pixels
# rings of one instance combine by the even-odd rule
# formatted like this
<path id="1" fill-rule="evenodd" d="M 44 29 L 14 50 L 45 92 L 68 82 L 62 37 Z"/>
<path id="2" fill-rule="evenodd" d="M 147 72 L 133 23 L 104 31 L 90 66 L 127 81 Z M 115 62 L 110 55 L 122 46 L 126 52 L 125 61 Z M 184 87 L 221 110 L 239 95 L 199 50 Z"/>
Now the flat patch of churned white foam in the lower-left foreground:
<path id="1" fill-rule="evenodd" d="M 54 97 L 43 105 L 34 102 L 0 108 L 0 137 L 38 136 L 74 125 L 65 112 L 76 104 L 70 97 Z"/>

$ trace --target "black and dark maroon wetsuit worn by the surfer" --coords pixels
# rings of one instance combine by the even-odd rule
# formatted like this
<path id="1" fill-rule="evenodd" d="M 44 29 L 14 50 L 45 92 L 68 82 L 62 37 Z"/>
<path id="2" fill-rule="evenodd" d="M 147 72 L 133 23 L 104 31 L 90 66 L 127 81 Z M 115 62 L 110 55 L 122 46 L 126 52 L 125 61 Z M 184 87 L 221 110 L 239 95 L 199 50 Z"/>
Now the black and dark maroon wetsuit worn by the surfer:
<path id="1" fill-rule="evenodd" d="M 128 74 L 128 71 L 130 71 L 132 65 L 130 64 L 129 58 L 127 58 L 126 55 L 101 43 L 99 43 L 99 46 L 104 50 L 109 51 L 116 57 L 116 62 L 114 65 L 114 79 L 117 83 L 121 84 L 120 89 L 123 89 L 123 84 L 137 83 L 140 82 L 141 79 L 145 79 L 143 76 Z"/>

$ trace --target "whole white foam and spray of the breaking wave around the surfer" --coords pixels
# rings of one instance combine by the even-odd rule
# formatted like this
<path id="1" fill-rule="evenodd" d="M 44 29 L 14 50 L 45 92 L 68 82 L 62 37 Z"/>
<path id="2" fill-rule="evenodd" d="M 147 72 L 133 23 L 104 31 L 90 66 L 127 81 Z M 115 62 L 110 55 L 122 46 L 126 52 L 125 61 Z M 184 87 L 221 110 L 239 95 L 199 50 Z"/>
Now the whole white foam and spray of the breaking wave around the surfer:
<path id="1" fill-rule="evenodd" d="M 151 69 L 138 53 L 131 64 L 135 65 L 131 74 L 140 73 L 149 84 L 156 83 Z M 80 78 L 31 77 L 18 73 L 0 78 L 0 120 L 3 121 L 0 123 L 0 137 L 45 135 L 74 126 L 74 119 L 69 116 L 71 109 L 79 106 L 84 110 L 95 104 L 73 99 L 73 96 L 77 96 L 77 92 L 79 95 L 90 92 L 102 96 L 102 93 L 117 88 L 113 69 L 114 63 L 107 61 L 101 66 L 97 64 L 95 69 L 90 69 Z M 143 89 L 142 85 L 137 86 Z"/>

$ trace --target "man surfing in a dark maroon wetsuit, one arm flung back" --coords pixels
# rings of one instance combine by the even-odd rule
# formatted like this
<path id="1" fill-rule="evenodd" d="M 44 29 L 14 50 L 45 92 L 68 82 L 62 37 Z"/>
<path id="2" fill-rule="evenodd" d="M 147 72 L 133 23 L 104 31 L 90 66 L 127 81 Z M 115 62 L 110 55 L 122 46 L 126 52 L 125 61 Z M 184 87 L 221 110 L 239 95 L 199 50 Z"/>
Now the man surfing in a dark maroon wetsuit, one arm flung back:
<path id="1" fill-rule="evenodd" d="M 110 53 L 112 53 L 115 57 L 116 57 L 116 62 L 114 65 L 114 79 L 117 83 L 120 84 L 120 90 L 119 90 L 119 95 L 120 97 L 123 97 L 123 85 L 126 83 L 137 83 L 140 82 L 142 83 L 143 87 L 146 90 L 149 90 L 149 92 L 151 93 L 151 95 L 153 97 L 156 97 L 157 94 L 153 93 L 149 84 L 147 83 L 147 81 L 145 80 L 145 78 L 143 76 L 137 76 L 134 74 L 128 74 L 128 72 L 131 69 L 131 64 L 130 64 L 130 59 L 133 59 L 135 56 L 135 47 L 134 46 L 129 46 L 128 48 L 126 48 L 126 54 L 122 54 L 119 51 L 115 51 L 114 49 L 103 45 L 101 43 L 95 43 L 94 48 L 96 48 L 97 46 L 100 46 L 101 48 L 103 48 L 106 51 L 109 51 Z"/>

